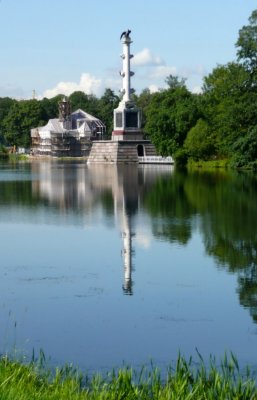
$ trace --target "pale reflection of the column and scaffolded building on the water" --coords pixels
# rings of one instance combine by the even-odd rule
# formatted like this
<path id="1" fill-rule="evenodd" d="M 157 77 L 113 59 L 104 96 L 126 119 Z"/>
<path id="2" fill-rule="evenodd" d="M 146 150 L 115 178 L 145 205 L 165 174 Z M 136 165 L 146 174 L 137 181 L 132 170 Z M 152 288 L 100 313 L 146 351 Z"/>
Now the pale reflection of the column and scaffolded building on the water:
<path id="1" fill-rule="evenodd" d="M 39 180 L 32 182 L 34 194 L 55 204 L 60 212 L 69 208 L 80 210 L 92 209 L 101 195 L 109 191 L 113 199 L 113 214 L 121 233 L 121 247 L 124 268 L 124 294 L 133 294 L 132 271 L 133 238 L 136 236 L 134 217 L 140 207 L 143 192 L 149 190 L 158 177 L 170 175 L 170 165 L 152 168 L 137 165 L 89 165 L 85 168 L 77 164 L 77 168 L 53 168 L 53 163 L 40 163 L 34 166 Z"/>

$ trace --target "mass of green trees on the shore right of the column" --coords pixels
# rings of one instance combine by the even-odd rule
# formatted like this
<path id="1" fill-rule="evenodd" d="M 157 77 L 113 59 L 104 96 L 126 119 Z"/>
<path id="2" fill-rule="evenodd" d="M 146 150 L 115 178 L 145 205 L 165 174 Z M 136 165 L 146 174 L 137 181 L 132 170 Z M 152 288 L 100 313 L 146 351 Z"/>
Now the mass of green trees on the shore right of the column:
<path id="1" fill-rule="evenodd" d="M 187 157 L 230 158 L 231 166 L 256 169 L 257 10 L 236 47 L 238 62 L 217 66 L 202 95 L 188 95 L 185 80 L 169 75 L 169 89 L 149 98 L 145 129 L 160 154 L 182 165 Z"/>

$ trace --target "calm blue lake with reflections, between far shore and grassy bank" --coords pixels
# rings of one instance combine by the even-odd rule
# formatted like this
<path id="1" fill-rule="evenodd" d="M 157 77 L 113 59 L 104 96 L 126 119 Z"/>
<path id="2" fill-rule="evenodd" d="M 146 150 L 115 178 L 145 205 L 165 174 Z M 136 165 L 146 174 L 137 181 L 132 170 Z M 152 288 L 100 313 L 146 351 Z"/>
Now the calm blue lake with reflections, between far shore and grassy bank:
<path id="1" fill-rule="evenodd" d="M 103 371 L 256 366 L 257 176 L 0 164 L 0 352 Z"/>

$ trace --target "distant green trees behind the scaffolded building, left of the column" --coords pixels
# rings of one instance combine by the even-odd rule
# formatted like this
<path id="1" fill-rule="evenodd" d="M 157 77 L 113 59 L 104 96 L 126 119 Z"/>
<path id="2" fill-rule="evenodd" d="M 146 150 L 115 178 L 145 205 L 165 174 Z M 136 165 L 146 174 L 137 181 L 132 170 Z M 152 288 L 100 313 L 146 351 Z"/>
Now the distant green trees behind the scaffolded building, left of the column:
<path id="1" fill-rule="evenodd" d="M 58 103 L 63 95 L 42 100 L 15 100 L 0 98 L 0 144 L 29 147 L 30 130 L 44 126 L 49 119 L 58 117 Z M 83 109 L 101 119 L 111 134 L 113 109 L 118 106 L 119 97 L 111 89 L 106 89 L 98 99 L 77 91 L 68 97 L 72 111 Z"/>

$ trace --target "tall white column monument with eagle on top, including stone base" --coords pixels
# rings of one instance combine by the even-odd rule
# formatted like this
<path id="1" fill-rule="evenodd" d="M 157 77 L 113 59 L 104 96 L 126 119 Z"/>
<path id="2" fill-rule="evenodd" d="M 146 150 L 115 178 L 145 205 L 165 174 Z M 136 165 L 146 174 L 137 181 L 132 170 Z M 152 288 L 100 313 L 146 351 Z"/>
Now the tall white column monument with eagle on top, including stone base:
<path id="1" fill-rule="evenodd" d="M 141 111 L 133 101 L 131 94 L 130 70 L 130 30 L 122 32 L 123 45 L 121 100 L 113 112 L 113 131 L 111 140 L 94 141 L 87 160 L 88 164 L 138 164 L 139 158 L 156 156 L 156 150 L 150 140 L 143 138 L 141 130 Z"/>

